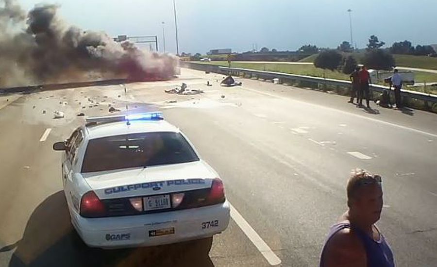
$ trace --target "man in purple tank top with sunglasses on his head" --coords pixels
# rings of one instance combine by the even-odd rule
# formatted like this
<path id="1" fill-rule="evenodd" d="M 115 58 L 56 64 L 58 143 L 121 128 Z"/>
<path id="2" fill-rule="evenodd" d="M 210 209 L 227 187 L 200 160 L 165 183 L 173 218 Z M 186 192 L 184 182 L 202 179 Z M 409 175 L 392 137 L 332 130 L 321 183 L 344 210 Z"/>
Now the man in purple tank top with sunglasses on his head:
<path id="1" fill-rule="evenodd" d="M 320 267 L 394 267 L 393 253 L 375 223 L 381 217 L 381 176 L 352 171 L 347 185 L 348 211 L 332 226 L 320 255 Z"/>

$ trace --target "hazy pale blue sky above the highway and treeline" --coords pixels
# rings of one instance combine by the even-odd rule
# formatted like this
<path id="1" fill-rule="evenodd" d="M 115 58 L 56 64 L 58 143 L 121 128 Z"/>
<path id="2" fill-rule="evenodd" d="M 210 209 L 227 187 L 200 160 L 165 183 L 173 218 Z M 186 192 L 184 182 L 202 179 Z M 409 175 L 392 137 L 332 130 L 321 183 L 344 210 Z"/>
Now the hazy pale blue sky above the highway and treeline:
<path id="1" fill-rule="evenodd" d="M 40 0 L 19 0 L 30 9 Z M 158 35 L 166 22 L 166 49 L 174 52 L 172 0 L 44 0 L 60 4 L 68 23 L 111 36 Z M 437 43 L 437 0 L 176 0 L 180 52 L 261 47 L 297 50 L 303 44 L 336 47 L 350 41 L 347 10 L 353 10 L 353 43 L 371 34 L 391 45 L 410 40 Z"/>

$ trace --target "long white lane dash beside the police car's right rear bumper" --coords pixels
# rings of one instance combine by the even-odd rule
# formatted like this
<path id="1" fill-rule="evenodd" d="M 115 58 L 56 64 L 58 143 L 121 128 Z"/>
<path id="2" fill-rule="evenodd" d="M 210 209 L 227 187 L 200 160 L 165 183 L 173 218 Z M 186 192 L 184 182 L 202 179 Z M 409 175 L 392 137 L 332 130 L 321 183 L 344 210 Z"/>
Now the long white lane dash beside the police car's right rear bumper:
<path id="1" fill-rule="evenodd" d="M 270 265 L 278 265 L 281 260 L 276 256 L 276 254 L 270 249 L 269 245 L 264 242 L 264 240 L 253 230 L 252 226 L 241 216 L 241 214 L 234 208 L 234 206 L 229 203 L 231 207 L 231 217 L 235 223 L 241 228 L 244 234 L 252 241 L 253 245 L 258 249 L 259 252 L 266 258 Z"/>

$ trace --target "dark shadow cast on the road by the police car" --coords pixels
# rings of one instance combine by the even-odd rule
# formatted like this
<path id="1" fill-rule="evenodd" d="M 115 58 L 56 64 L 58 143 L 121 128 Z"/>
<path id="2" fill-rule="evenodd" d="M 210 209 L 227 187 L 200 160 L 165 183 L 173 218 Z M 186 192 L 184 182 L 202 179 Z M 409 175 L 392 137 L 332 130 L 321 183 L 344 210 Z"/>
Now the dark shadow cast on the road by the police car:
<path id="1" fill-rule="evenodd" d="M 151 248 L 88 248 L 73 231 L 64 192 L 54 193 L 32 213 L 9 267 L 153 266 L 213 267 L 212 237 Z"/>

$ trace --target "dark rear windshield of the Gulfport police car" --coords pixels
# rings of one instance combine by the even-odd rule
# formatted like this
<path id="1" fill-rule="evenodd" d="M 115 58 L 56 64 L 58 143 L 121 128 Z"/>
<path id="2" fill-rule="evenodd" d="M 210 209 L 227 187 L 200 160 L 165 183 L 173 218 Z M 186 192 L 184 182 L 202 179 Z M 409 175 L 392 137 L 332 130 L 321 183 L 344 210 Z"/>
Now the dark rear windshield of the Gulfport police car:
<path id="1" fill-rule="evenodd" d="M 82 172 L 149 167 L 198 161 L 194 150 L 179 133 L 124 134 L 91 139 Z"/>

